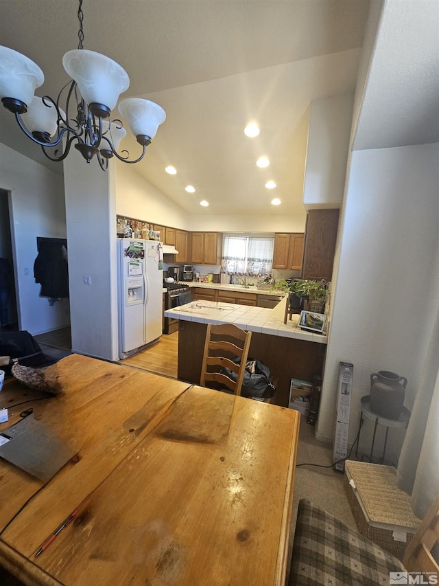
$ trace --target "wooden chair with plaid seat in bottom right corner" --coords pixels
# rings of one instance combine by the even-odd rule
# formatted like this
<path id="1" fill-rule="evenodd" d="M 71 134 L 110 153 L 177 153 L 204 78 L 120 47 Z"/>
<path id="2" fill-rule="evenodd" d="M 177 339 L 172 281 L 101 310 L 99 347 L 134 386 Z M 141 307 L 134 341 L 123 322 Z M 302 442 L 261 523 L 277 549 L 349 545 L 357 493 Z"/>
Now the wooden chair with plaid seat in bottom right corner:
<path id="1" fill-rule="evenodd" d="M 431 555 L 438 540 L 439 497 L 407 545 L 402 562 L 355 528 L 301 499 L 288 586 L 388 584 L 390 572 L 433 572 L 439 576 L 439 565 Z"/>

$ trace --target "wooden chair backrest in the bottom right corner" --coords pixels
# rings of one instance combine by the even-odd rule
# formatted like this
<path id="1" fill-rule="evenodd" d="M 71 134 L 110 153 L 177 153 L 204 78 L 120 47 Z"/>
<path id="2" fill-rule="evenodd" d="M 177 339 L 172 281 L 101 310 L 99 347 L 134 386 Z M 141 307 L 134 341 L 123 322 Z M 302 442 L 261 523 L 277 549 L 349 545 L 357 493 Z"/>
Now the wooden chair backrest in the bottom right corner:
<path id="1" fill-rule="evenodd" d="M 408 572 L 436 572 L 439 564 L 431 555 L 431 550 L 439 541 L 439 496 L 431 505 L 420 522 L 412 541 L 407 545 L 403 564 Z"/>

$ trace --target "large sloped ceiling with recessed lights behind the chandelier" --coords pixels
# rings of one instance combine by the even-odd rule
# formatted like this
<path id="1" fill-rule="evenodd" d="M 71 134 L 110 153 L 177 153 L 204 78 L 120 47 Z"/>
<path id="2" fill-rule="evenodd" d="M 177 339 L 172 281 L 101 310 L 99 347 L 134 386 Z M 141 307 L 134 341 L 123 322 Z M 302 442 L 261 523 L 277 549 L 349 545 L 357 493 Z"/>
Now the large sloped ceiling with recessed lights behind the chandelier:
<path id="1" fill-rule="evenodd" d="M 302 214 L 307 110 L 316 98 L 355 91 L 368 7 L 369 0 L 84 0 L 84 48 L 128 71 L 122 98 L 165 109 L 133 168 L 183 209 Z M 0 0 L 0 8 L 0 42 L 43 69 L 36 93 L 55 98 L 67 82 L 62 55 L 78 46 L 78 3 Z M 261 127 L 256 139 L 243 133 L 250 120 Z M 15 126 L 1 108 L 0 142 L 62 172 Z M 128 138 L 121 146 L 133 157 L 140 148 Z M 257 168 L 261 155 L 270 167 Z M 167 165 L 178 174 L 165 173 Z M 268 179 L 275 190 L 264 188 Z M 195 194 L 185 192 L 188 183 Z M 270 205 L 274 196 L 282 205 Z"/>

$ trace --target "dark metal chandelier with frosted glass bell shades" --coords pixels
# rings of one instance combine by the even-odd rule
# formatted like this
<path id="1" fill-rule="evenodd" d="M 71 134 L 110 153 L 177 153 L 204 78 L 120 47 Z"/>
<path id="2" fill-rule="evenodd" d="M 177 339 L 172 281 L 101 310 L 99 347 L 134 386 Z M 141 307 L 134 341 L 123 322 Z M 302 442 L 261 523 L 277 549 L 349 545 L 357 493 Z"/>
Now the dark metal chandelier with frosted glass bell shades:
<path id="1" fill-rule="evenodd" d="M 137 159 L 128 160 L 127 150 L 117 153 L 126 136 L 121 120 L 108 120 L 119 95 L 130 85 L 126 71 L 115 61 L 82 47 L 82 0 L 79 0 L 78 49 L 67 52 L 62 65 L 71 80 L 53 100 L 34 95 L 44 82 L 44 74 L 32 60 L 9 47 L 0 46 L 0 98 L 3 106 L 15 115 L 21 130 L 39 144 L 51 161 L 62 161 L 75 143 L 87 163 L 96 155 L 102 170 L 108 159 L 117 157 L 124 163 L 138 163 L 145 149 L 165 121 L 161 106 L 141 98 L 128 98 L 119 104 L 119 113 L 128 120 L 131 132 L 143 151 Z M 65 98 L 64 98 L 65 96 Z M 62 100 L 62 108 L 60 104 Z M 71 117 L 73 114 L 74 117 Z M 62 147 L 62 139 L 65 138 Z M 60 148 L 57 148 L 60 145 Z M 48 152 L 47 148 L 51 150 Z"/>

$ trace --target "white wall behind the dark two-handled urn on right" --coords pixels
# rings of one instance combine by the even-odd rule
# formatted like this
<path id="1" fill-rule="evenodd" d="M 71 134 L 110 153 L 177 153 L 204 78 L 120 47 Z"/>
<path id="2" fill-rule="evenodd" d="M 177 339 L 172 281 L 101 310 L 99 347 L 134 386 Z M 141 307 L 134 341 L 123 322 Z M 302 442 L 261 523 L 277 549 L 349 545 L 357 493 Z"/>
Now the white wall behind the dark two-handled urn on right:
<path id="1" fill-rule="evenodd" d="M 341 219 L 316 436 L 333 437 L 337 370 L 354 365 L 350 443 L 370 373 L 408 379 L 412 407 L 439 304 L 439 144 L 356 151 Z M 396 451 L 390 438 L 390 452 Z"/>

